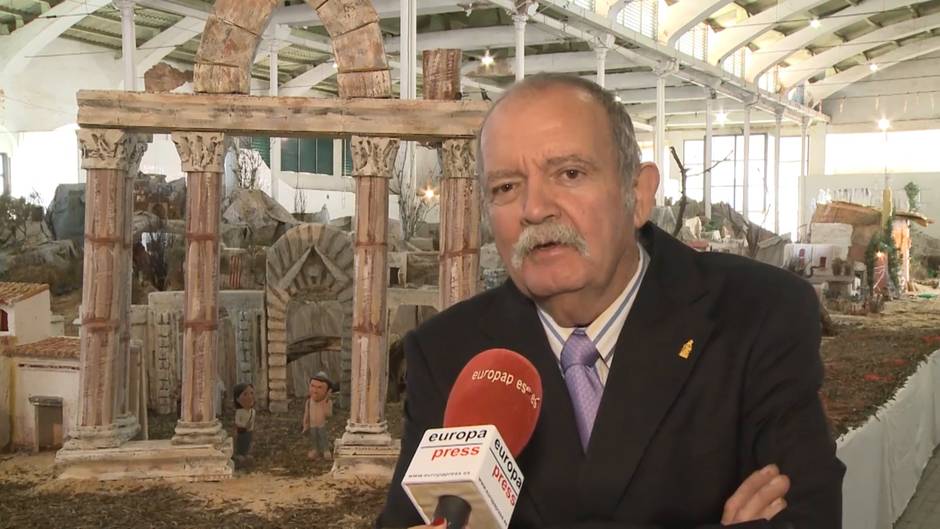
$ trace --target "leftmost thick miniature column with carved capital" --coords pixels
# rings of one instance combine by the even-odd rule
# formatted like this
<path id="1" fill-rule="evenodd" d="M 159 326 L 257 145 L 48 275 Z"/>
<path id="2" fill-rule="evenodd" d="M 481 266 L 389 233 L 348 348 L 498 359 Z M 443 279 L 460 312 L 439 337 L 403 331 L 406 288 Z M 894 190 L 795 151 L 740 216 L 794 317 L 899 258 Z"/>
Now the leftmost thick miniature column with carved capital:
<path id="1" fill-rule="evenodd" d="M 65 450 L 114 448 L 139 430 L 127 402 L 134 177 L 150 135 L 80 129 L 85 260 L 78 426 Z"/>

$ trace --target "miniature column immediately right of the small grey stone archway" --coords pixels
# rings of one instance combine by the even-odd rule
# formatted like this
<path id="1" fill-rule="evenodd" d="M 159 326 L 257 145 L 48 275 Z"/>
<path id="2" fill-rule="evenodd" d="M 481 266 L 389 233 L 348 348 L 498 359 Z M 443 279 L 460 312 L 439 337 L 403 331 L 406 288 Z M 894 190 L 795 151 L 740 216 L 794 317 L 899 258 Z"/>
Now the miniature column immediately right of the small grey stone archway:
<path id="1" fill-rule="evenodd" d="M 388 181 L 398 140 L 353 136 L 350 147 L 356 179 L 356 258 L 351 403 L 342 444 L 387 445 Z"/>

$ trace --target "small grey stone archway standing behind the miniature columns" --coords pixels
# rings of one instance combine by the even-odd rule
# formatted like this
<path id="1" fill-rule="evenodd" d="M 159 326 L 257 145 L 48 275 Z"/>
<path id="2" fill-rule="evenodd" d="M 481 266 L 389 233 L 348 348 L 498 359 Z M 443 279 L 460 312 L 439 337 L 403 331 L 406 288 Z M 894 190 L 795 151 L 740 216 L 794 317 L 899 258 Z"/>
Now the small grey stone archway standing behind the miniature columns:
<path id="1" fill-rule="evenodd" d="M 265 309 L 267 352 L 259 394 L 271 411 L 287 411 L 287 306 L 302 292 L 325 289 L 342 312 L 340 398 L 349 403 L 352 361 L 354 252 L 349 234 L 324 224 L 301 224 L 288 230 L 267 250 Z"/>

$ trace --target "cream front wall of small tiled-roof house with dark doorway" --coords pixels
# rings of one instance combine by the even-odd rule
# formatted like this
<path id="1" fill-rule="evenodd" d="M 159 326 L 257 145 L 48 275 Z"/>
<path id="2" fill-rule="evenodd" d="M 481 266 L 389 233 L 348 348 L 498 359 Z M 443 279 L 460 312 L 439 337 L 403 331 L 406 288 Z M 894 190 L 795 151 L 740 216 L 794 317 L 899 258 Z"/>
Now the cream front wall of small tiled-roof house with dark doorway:
<path id="1" fill-rule="evenodd" d="M 62 398 L 63 439 L 75 428 L 78 414 L 78 360 L 13 358 L 13 446 L 33 445 L 34 395 Z"/>

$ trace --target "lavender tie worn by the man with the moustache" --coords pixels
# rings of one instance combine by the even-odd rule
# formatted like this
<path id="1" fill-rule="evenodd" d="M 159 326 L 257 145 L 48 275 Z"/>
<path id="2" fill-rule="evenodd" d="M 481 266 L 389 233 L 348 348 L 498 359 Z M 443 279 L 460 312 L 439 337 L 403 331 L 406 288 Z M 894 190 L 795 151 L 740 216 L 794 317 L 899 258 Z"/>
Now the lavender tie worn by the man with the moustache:
<path id="1" fill-rule="evenodd" d="M 574 406 L 581 448 L 585 452 L 591 439 L 591 429 L 594 428 L 597 407 L 601 403 L 601 394 L 604 392 L 601 379 L 594 369 L 599 356 L 594 342 L 584 333 L 584 329 L 580 328 L 571 333 L 561 349 L 561 369 L 565 384 L 568 385 L 568 393 L 571 395 L 571 404 Z"/>

